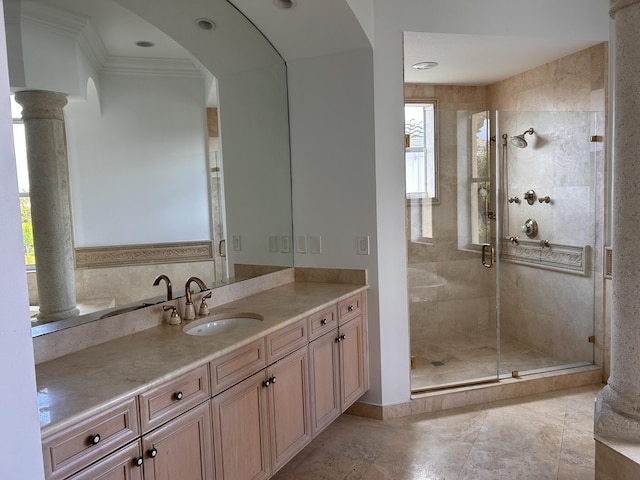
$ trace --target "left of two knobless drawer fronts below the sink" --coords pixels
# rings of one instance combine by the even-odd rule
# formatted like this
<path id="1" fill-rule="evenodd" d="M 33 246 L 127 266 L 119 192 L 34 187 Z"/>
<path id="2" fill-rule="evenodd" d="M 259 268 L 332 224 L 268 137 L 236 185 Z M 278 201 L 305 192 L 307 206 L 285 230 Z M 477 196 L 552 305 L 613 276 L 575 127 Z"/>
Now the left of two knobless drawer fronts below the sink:
<path id="1" fill-rule="evenodd" d="M 264 338 L 211 361 L 211 393 L 216 394 L 267 366 Z"/>

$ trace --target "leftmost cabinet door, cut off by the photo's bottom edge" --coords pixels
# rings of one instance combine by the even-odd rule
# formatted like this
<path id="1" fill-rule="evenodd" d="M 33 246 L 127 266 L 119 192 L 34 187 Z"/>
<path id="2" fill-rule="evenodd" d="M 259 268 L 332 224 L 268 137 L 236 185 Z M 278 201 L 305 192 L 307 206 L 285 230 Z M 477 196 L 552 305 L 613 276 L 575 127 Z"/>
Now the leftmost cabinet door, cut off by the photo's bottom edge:
<path id="1" fill-rule="evenodd" d="M 140 441 L 108 455 L 69 480 L 142 480 Z"/>

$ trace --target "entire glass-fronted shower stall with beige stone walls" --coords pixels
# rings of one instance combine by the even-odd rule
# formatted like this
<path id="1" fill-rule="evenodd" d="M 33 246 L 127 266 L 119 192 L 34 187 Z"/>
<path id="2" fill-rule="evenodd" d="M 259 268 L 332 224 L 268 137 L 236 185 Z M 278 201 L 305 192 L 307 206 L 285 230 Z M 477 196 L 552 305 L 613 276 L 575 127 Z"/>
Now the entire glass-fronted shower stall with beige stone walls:
<path id="1" fill-rule="evenodd" d="M 405 107 L 412 391 L 593 364 L 603 112 Z"/>

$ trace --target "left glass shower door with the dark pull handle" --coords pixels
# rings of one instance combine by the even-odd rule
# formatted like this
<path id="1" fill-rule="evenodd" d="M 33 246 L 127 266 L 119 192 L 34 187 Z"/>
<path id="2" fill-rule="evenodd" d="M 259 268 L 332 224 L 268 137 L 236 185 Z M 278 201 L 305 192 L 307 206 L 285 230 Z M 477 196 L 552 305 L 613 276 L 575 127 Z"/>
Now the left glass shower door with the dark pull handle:
<path id="1" fill-rule="evenodd" d="M 496 191 L 486 111 L 435 110 L 437 193 L 407 191 L 412 391 L 497 381 Z M 405 111 L 407 172 L 429 128 Z M 427 147 L 424 147 L 427 145 Z M 409 155 L 411 154 L 411 155 Z M 413 170 L 412 170 L 413 169 Z M 415 185 L 408 178 L 407 185 Z M 426 225 L 426 228 L 425 228 Z M 491 244 L 491 245 L 489 245 Z M 484 257 L 483 257 L 484 250 Z M 495 252 L 492 254 L 492 251 Z M 482 260 L 481 260 L 482 259 Z M 483 266 L 483 261 L 487 266 Z"/>

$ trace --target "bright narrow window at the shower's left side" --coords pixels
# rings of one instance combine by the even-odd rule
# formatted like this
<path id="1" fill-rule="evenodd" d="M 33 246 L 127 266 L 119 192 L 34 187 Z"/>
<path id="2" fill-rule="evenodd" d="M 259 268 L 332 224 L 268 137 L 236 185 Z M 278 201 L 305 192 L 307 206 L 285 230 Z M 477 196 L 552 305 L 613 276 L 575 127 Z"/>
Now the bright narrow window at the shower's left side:
<path id="1" fill-rule="evenodd" d="M 404 105 L 405 175 L 412 241 L 433 238 L 432 206 L 438 203 L 436 101 L 412 100 Z"/>

